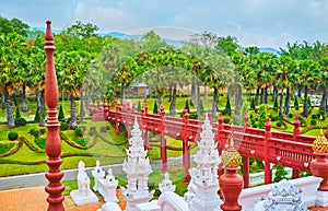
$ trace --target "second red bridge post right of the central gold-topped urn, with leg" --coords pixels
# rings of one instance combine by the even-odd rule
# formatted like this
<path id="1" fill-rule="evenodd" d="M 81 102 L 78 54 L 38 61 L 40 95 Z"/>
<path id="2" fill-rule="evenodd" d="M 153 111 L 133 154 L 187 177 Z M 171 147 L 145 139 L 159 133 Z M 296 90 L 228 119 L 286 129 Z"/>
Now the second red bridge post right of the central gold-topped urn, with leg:
<path id="1" fill-rule="evenodd" d="M 269 154 L 269 139 L 271 138 L 271 124 L 269 117 L 267 117 L 267 122 L 265 125 L 265 184 L 271 184 L 272 181 L 272 172 L 268 159 Z"/>

